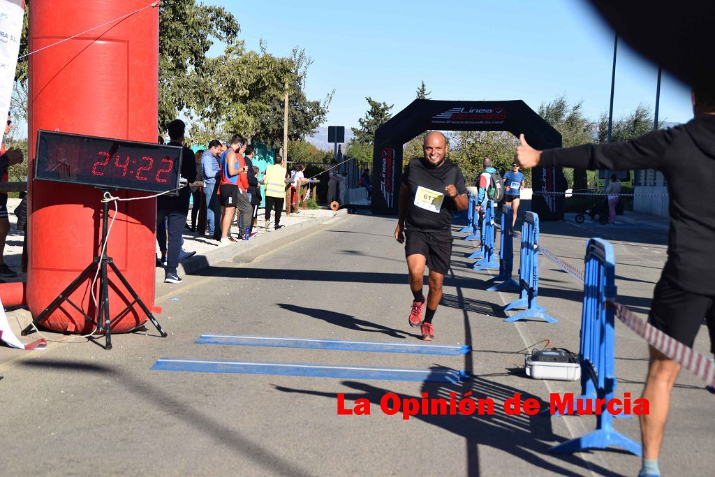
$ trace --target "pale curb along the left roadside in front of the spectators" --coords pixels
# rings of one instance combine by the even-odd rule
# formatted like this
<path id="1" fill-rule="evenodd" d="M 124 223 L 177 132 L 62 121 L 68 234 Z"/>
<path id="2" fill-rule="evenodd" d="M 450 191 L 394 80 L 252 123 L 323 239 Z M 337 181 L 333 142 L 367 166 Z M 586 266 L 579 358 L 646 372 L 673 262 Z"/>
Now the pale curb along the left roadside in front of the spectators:
<path id="1" fill-rule="evenodd" d="M 271 242 L 277 242 L 287 237 L 291 237 L 292 235 L 297 235 L 299 232 L 304 232 L 305 230 L 317 228 L 320 225 L 325 225 L 331 220 L 340 220 L 345 216 L 347 216 L 347 209 L 342 209 L 338 210 L 330 217 L 305 220 L 305 222 L 290 225 L 289 227 L 262 233 L 247 242 L 240 241 L 230 245 L 225 245 L 224 247 L 216 247 L 214 250 L 194 255 L 188 260 L 184 260 L 179 263 L 177 272 L 179 273 L 179 276 L 194 275 L 195 273 L 204 270 L 204 268 L 211 267 L 220 262 L 233 260 L 235 257 L 238 257 L 239 255 L 249 252 L 257 247 L 262 247 L 263 245 L 270 244 Z M 164 267 L 157 267 L 156 282 L 157 284 L 164 282 Z"/>

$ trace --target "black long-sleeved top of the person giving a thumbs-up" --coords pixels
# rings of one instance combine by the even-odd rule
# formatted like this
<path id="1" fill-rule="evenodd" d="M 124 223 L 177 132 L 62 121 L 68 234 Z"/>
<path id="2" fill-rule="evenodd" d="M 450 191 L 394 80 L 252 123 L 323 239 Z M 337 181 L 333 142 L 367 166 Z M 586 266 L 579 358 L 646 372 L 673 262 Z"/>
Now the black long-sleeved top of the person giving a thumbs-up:
<path id="1" fill-rule="evenodd" d="M 541 153 L 541 165 L 663 172 L 670 230 L 662 278 L 682 290 L 715 295 L 715 116 L 699 116 L 633 141 L 548 149 Z"/>

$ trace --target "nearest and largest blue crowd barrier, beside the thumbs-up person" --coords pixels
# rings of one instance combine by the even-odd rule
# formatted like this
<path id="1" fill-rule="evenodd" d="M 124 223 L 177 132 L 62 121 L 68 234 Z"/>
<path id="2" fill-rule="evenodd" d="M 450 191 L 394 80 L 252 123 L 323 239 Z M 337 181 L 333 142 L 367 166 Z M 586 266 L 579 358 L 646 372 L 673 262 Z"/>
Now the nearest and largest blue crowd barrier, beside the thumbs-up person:
<path id="1" fill-rule="evenodd" d="M 613 399 L 616 391 L 615 330 L 613 310 L 606 300 L 616 298 L 613 246 L 598 238 L 586 245 L 586 270 L 581 313 L 581 396 L 577 400 Z M 591 403 L 593 408 L 595 402 Z M 596 415 L 596 430 L 552 447 L 556 453 L 617 446 L 641 456 L 641 445 L 613 430 L 613 415 L 605 409 Z"/>

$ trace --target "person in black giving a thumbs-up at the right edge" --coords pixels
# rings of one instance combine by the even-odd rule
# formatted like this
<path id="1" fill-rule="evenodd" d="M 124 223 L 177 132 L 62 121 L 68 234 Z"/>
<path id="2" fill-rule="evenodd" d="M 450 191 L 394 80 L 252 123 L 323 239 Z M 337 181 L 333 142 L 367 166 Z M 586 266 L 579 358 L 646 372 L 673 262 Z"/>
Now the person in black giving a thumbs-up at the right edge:
<path id="1" fill-rule="evenodd" d="M 705 318 L 715 353 L 715 91 L 693 91 L 694 119 L 643 137 L 613 144 L 584 144 L 538 151 L 523 134 L 516 149 L 522 167 L 541 165 L 581 169 L 657 169 L 666 178 L 670 230 L 668 260 L 654 290 L 648 321 L 659 330 L 692 347 Z M 704 187 L 694 187 L 700 178 Z M 650 365 L 643 397 L 651 413 L 641 416 L 644 468 L 641 475 L 658 476 L 663 431 L 670 392 L 680 365 L 650 347 Z M 647 468 L 646 468 L 647 467 Z"/>

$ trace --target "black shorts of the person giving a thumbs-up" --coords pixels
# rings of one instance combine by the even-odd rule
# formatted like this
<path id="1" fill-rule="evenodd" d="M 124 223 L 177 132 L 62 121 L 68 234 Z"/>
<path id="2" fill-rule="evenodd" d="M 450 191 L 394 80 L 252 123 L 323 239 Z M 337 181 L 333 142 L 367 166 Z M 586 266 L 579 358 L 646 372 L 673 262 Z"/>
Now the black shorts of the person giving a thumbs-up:
<path id="1" fill-rule="evenodd" d="M 692 348 L 703 319 L 710 332 L 710 350 L 715 353 L 715 296 L 686 292 L 661 277 L 653 292 L 648 323 Z"/>

